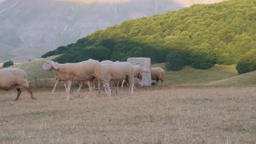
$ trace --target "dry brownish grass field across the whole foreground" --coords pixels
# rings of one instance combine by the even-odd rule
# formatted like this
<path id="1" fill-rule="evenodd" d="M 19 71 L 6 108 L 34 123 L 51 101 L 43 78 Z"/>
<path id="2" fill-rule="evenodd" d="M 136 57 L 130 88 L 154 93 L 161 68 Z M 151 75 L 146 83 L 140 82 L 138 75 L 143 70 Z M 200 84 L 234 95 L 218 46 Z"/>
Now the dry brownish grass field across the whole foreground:
<path id="1" fill-rule="evenodd" d="M 0 143 L 256 143 L 255 87 L 50 91 L 0 91 Z"/>

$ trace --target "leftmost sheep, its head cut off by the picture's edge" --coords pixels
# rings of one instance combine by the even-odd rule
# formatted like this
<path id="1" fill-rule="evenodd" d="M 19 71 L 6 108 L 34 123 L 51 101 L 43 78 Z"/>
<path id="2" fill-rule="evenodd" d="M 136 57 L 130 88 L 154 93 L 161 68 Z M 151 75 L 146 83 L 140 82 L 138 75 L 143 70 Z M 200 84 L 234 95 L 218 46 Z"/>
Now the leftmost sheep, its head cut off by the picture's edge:
<path id="1" fill-rule="evenodd" d="M 21 87 L 25 87 L 30 93 L 31 99 L 35 100 L 31 88 L 28 86 L 26 73 L 19 68 L 0 69 L 0 89 L 9 91 L 10 89 L 17 89 L 17 97 L 14 101 L 18 101 L 21 94 Z"/>

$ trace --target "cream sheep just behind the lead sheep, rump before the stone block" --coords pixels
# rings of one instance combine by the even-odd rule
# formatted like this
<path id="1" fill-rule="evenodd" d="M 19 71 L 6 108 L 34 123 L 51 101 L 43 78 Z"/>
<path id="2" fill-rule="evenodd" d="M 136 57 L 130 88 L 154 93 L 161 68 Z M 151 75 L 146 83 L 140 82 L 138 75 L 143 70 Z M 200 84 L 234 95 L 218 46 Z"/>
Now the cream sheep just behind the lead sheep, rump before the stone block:
<path id="1" fill-rule="evenodd" d="M 106 80 L 109 81 L 123 81 L 126 80 L 131 87 L 131 94 L 133 94 L 133 68 L 128 62 L 118 62 L 113 64 L 102 64 Z"/>

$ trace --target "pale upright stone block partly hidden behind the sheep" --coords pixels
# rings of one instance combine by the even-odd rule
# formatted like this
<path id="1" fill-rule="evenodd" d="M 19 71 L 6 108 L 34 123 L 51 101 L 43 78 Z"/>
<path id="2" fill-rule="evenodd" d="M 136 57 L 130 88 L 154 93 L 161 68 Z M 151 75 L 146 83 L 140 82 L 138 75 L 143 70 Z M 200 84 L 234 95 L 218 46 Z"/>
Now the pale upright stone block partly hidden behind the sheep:
<path id="1" fill-rule="evenodd" d="M 130 57 L 127 62 L 132 65 L 141 65 L 143 70 L 143 77 L 141 86 L 151 86 L 151 59 L 146 57 Z"/>

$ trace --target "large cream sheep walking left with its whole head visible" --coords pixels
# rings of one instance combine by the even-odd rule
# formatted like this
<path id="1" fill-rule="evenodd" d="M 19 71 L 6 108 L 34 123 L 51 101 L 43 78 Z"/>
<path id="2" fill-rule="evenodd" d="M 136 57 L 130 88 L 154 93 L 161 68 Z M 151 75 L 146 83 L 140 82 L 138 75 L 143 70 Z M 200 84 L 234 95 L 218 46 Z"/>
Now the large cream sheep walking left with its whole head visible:
<path id="1" fill-rule="evenodd" d="M 59 64 L 54 61 L 46 61 L 43 65 L 43 70 L 51 70 L 57 75 L 61 75 L 63 80 L 67 81 L 67 99 L 70 100 L 70 87 L 72 81 L 89 81 L 90 82 L 90 91 L 86 95 L 86 98 L 89 97 L 91 91 L 95 88 L 94 79 L 98 79 L 103 82 L 106 93 L 110 96 L 109 82 L 105 79 L 104 69 L 100 62 L 95 60 L 84 61 L 80 63 L 65 63 Z"/>

